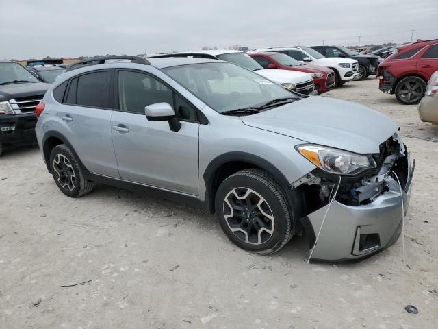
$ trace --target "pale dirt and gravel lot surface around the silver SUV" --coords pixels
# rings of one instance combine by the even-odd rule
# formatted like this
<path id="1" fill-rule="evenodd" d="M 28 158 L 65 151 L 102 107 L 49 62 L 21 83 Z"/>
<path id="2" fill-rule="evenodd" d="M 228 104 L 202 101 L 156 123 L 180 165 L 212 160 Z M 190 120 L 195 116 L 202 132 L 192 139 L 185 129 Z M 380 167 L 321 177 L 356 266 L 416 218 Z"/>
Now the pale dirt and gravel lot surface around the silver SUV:
<path id="1" fill-rule="evenodd" d="M 0 328 L 437 328 L 438 127 L 377 84 L 326 97 L 402 126 L 417 160 L 409 266 L 401 239 L 352 264 L 306 265 L 305 237 L 272 257 L 248 254 L 213 216 L 153 195 L 98 186 L 70 199 L 38 149 L 17 149 L 0 158 Z"/>

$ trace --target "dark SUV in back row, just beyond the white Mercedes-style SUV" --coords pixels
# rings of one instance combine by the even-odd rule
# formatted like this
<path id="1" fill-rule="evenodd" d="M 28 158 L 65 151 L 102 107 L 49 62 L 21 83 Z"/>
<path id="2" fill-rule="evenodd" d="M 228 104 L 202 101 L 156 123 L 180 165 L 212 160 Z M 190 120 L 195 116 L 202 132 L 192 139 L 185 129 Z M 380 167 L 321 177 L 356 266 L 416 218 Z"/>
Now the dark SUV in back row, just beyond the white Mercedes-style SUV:
<path id="1" fill-rule="evenodd" d="M 326 57 L 352 58 L 359 62 L 359 79 L 364 80 L 369 75 L 376 75 L 378 68 L 378 56 L 363 55 L 342 46 L 312 46 L 319 53 Z"/>

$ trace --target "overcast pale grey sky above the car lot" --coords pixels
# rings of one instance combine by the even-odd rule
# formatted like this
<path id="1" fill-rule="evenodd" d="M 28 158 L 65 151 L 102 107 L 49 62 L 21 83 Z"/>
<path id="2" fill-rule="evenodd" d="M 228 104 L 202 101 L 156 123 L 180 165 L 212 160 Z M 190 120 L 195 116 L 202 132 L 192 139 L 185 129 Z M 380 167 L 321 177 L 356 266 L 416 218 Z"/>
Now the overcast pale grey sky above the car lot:
<path id="1" fill-rule="evenodd" d="M 438 38 L 438 0 L 0 0 L 0 59 Z"/>

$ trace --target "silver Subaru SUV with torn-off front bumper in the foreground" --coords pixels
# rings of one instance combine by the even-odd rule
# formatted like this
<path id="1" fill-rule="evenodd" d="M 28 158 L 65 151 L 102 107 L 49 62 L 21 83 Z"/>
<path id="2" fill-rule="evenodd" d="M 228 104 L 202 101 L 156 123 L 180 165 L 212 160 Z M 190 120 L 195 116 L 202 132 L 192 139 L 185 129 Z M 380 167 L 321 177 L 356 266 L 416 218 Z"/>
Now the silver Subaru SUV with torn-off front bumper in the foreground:
<path id="1" fill-rule="evenodd" d="M 123 58 L 75 64 L 36 108 L 38 143 L 65 195 L 101 182 L 201 206 L 260 254 L 302 232 L 324 260 L 398 239 L 413 168 L 395 121 L 229 62 Z"/>

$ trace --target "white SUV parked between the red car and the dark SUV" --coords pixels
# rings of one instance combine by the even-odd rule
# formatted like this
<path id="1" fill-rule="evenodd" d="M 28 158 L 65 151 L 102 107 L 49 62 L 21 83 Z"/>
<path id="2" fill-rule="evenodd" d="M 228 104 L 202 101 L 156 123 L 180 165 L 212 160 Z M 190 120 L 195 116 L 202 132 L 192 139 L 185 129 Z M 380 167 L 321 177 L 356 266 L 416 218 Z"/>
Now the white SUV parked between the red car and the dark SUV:
<path id="1" fill-rule="evenodd" d="M 351 58 L 325 57 L 310 47 L 269 47 L 257 51 L 276 51 L 285 53 L 304 64 L 312 62 L 315 65 L 326 66 L 335 71 L 336 86 L 359 78 L 359 64 Z"/>

